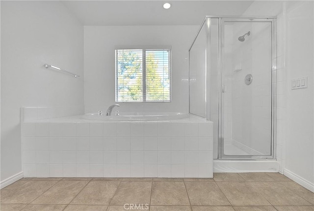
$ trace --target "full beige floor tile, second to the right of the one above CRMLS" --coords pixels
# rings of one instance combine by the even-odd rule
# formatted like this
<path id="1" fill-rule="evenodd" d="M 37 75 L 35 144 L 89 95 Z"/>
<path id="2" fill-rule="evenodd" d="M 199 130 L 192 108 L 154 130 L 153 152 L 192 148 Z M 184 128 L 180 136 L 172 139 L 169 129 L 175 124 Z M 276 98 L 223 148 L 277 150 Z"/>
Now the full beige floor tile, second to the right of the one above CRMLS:
<path id="1" fill-rule="evenodd" d="M 186 181 L 185 186 L 192 206 L 230 206 L 216 182 Z"/>

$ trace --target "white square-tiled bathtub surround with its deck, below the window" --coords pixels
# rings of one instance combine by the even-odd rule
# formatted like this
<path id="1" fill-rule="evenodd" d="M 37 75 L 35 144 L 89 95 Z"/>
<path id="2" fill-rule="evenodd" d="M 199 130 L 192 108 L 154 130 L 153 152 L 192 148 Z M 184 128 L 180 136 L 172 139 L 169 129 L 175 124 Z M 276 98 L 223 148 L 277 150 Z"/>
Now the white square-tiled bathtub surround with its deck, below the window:
<path id="1" fill-rule="evenodd" d="M 22 123 L 25 177 L 212 178 L 212 122 Z"/>

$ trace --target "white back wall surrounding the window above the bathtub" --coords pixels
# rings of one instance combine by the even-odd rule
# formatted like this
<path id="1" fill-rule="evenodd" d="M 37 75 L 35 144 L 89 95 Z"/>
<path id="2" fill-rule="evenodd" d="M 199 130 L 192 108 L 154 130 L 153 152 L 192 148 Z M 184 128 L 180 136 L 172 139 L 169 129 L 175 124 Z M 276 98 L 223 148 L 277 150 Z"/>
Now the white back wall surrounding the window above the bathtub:
<path id="1" fill-rule="evenodd" d="M 188 112 L 188 49 L 199 26 L 84 27 L 85 112 L 115 102 L 116 46 L 172 46 L 172 102 L 120 103 L 119 110 Z"/>

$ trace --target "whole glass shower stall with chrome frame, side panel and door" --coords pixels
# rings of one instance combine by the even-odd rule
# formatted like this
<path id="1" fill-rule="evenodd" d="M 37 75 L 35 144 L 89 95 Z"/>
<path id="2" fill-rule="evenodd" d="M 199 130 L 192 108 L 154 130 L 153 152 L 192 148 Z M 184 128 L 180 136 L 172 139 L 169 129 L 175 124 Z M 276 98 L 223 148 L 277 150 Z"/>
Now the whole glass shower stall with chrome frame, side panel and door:
<path id="1" fill-rule="evenodd" d="M 276 158 L 276 18 L 207 16 L 189 65 L 189 112 L 213 121 L 213 159 Z"/>

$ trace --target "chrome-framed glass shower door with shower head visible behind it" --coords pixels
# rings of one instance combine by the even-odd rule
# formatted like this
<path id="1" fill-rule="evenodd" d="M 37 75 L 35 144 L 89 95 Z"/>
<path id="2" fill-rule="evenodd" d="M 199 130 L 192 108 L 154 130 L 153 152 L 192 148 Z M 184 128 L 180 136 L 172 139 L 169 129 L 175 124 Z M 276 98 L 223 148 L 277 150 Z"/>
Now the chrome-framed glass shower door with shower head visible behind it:
<path id="1" fill-rule="evenodd" d="M 272 158 L 273 24 L 221 20 L 222 158 Z"/>

